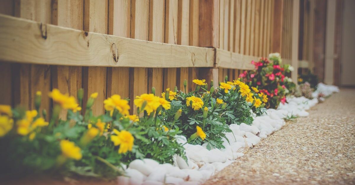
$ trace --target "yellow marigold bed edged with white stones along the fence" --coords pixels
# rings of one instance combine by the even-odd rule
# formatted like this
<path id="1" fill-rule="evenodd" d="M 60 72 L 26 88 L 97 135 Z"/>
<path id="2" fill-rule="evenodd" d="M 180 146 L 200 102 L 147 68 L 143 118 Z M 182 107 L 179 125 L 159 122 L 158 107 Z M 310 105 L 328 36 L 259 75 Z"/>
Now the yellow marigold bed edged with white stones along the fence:
<path id="1" fill-rule="evenodd" d="M 265 109 L 273 97 L 240 79 L 217 87 L 213 81 L 193 82 L 196 89 L 191 92 L 166 89 L 158 97 L 153 88 L 152 94 L 137 96 L 136 115 L 129 115 L 129 102 L 119 95 L 103 102 L 105 114 L 93 115 L 97 93 L 82 115 L 82 90 L 77 102 L 53 89 L 50 120 L 45 120 L 45 110 L 39 111 L 40 92 L 35 110 L 0 105 L 0 145 L 6 148 L 0 152 L 0 168 L 15 175 L 118 176 L 120 184 L 200 184 L 281 129 L 284 119 L 307 116 L 305 110 L 318 102 L 284 97 L 288 103 L 280 103 L 277 110 Z M 320 84 L 313 97 L 336 91 Z"/>

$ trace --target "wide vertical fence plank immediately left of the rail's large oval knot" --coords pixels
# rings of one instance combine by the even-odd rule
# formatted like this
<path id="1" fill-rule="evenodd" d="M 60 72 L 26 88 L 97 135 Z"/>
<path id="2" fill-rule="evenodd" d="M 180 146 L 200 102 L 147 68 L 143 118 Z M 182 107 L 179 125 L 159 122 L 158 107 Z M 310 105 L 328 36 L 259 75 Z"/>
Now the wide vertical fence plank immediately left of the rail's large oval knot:
<path id="1" fill-rule="evenodd" d="M 84 31 L 107 34 L 108 0 L 85 0 L 84 5 Z M 91 93 L 98 92 L 92 107 L 94 115 L 104 113 L 102 102 L 106 99 L 106 84 L 107 67 L 83 67 L 83 105 L 86 106 Z"/>

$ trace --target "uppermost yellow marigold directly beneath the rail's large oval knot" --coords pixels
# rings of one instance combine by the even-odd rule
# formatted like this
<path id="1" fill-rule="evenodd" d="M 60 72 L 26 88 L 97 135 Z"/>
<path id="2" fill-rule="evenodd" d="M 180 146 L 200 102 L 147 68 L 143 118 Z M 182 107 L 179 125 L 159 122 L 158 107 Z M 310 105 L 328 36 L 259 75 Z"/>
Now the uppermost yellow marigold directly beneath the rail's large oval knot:
<path id="1" fill-rule="evenodd" d="M 118 94 L 114 94 L 110 98 L 105 99 L 104 107 L 106 110 L 111 111 L 111 113 L 114 109 L 117 109 L 122 115 L 128 115 L 130 110 L 128 100 L 121 99 L 121 96 Z"/>

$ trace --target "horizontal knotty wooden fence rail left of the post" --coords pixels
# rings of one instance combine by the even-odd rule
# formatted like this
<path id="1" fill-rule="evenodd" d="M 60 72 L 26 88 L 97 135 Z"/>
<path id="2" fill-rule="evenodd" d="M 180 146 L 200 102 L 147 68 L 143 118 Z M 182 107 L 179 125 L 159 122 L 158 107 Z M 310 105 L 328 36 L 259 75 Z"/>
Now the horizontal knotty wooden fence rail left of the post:
<path id="1" fill-rule="evenodd" d="M 0 60 L 70 66 L 213 66 L 212 48 L 155 43 L 54 25 L 43 25 L 41 33 L 39 28 L 38 22 L 0 15 Z"/>

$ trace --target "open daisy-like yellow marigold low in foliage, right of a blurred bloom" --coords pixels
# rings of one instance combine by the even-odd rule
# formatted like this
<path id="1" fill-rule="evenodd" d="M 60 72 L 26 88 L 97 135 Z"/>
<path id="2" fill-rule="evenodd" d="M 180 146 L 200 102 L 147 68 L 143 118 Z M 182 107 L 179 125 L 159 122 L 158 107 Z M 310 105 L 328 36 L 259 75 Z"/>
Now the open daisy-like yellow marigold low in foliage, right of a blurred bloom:
<path id="1" fill-rule="evenodd" d="M 127 151 L 132 151 L 134 137 L 129 131 L 122 130 L 118 131 L 114 129 L 116 135 L 111 135 L 111 141 L 115 146 L 120 145 L 118 153 L 126 153 Z"/>

